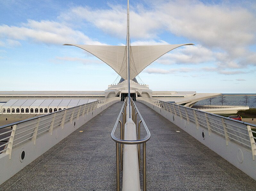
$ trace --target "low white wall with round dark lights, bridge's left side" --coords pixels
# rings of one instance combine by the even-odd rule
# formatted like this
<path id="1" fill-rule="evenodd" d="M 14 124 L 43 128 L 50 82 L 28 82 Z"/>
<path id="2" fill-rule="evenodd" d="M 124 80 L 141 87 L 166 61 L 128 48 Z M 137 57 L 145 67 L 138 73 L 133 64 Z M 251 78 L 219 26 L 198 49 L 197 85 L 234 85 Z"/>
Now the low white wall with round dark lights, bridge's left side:
<path id="1" fill-rule="evenodd" d="M 40 155 L 45 153 L 55 144 L 59 143 L 62 139 L 70 135 L 73 131 L 75 131 L 82 125 L 84 125 L 87 121 L 95 117 L 97 114 L 101 113 L 104 109 L 106 109 L 107 107 L 111 106 L 112 104 L 118 101 L 120 101 L 120 98 L 114 97 L 114 98 L 103 99 L 103 101 L 99 100 L 95 104 L 94 102 L 89 103 L 91 104 L 92 107 L 88 108 L 87 114 L 83 113 L 82 115 L 82 112 L 81 112 L 80 116 L 78 115 L 78 117 L 76 117 L 75 119 L 66 121 L 63 127 L 58 126 L 56 128 L 53 128 L 52 132 L 50 132 L 50 130 L 46 131 L 45 133 L 42 133 L 41 136 L 37 136 L 36 140 L 33 140 L 33 138 L 32 140 L 29 139 L 26 142 L 13 147 L 11 149 L 11 153 L 8 153 L 7 152 L 8 150 L 6 152 L 1 153 L 0 154 L 0 164 L 1 164 L 0 165 L 1 166 L 0 184 L 2 184 L 3 182 L 11 178 L 13 175 L 19 172 L 22 168 L 29 165 L 29 163 L 31 163 L 33 160 L 35 160 Z M 79 114 L 78 112 L 79 107 L 81 108 L 81 106 L 78 106 L 78 107 L 67 109 L 66 112 L 68 113 L 69 110 L 74 110 L 74 111 L 77 111 L 77 113 Z M 74 114 L 74 111 L 73 111 L 73 114 Z M 65 112 L 65 110 L 54 112 L 54 113 L 57 114 L 59 112 L 63 113 Z M 51 115 L 53 116 L 54 113 L 44 115 L 42 117 L 47 117 Z M 70 119 L 71 118 L 72 117 L 70 117 Z M 35 120 L 38 120 L 38 118 Z M 22 127 L 26 127 L 26 125 L 27 127 L 29 127 L 29 125 L 31 125 L 31 121 L 33 120 L 23 122 Z M 18 124 L 17 127 L 19 127 L 19 125 L 21 126 L 21 124 Z M 14 129 L 14 126 L 13 126 L 13 129 Z M 25 158 L 23 160 L 21 160 L 22 151 L 25 151 Z"/>

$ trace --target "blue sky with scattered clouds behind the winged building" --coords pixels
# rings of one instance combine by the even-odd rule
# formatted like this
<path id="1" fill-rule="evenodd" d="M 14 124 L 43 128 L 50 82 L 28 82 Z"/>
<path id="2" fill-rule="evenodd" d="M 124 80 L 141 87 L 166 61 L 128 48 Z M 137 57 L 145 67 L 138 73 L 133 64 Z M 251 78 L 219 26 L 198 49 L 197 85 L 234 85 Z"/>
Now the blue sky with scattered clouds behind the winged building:
<path id="1" fill-rule="evenodd" d="M 256 93 L 256 1 L 130 0 L 131 45 L 176 48 L 139 77 L 153 91 Z M 0 91 L 103 91 L 118 74 L 62 44 L 126 42 L 125 0 L 0 0 Z"/>

